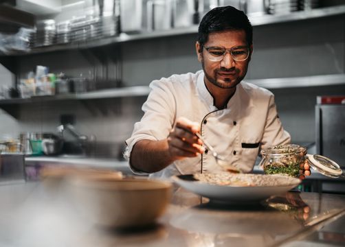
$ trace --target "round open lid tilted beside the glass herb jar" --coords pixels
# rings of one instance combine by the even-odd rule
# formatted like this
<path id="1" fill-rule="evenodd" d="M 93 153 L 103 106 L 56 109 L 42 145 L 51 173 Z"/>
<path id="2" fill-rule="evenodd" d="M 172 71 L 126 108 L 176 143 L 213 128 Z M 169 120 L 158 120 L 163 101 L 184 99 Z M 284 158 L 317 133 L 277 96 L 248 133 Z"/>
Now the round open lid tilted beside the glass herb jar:
<path id="1" fill-rule="evenodd" d="M 320 172 L 324 176 L 328 176 L 330 178 L 340 178 L 345 177 L 340 168 L 335 161 L 332 161 L 330 158 L 322 156 L 320 154 L 306 154 L 308 163 L 313 167 L 313 169 Z"/>

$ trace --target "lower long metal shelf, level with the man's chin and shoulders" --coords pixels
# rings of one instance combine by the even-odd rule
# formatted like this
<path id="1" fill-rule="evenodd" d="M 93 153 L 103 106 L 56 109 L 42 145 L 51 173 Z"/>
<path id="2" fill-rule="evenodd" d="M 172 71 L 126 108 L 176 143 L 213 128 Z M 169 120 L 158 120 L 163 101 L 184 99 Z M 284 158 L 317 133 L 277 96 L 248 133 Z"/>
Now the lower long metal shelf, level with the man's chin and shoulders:
<path id="1" fill-rule="evenodd" d="M 285 89 L 307 86 L 345 85 L 345 74 L 309 75 L 295 78 L 267 78 L 245 80 L 262 86 L 265 89 Z M 48 102 L 59 100 L 109 99 L 116 97 L 146 96 L 150 92 L 148 86 L 129 86 L 117 89 L 104 89 L 88 93 L 70 93 L 67 95 L 35 96 L 27 99 L 0 99 L 0 107 L 14 104 L 30 104 L 34 102 Z"/>

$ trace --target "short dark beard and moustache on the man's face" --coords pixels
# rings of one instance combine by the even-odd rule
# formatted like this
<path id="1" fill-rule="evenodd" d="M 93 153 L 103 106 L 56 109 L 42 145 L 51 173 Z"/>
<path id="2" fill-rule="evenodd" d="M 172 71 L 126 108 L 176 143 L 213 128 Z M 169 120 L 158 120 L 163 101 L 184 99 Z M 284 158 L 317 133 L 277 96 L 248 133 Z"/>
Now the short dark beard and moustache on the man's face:
<path id="1" fill-rule="evenodd" d="M 245 78 L 245 74 L 243 76 L 238 76 L 237 78 L 225 78 L 223 79 L 223 81 L 220 81 L 218 78 L 218 72 L 230 72 L 230 71 L 234 71 L 234 69 L 215 69 L 213 71 L 213 75 L 210 75 L 210 73 L 207 73 L 205 71 L 205 65 L 203 60 L 201 61 L 201 65 L 203 67 L 203 73 L 205 73 L 205 78 L 211 82 L 212 84 L 214 84 L 215 86 L 218 86 L 221 89 L 233 89 L 236 88 L 236 86 L 243 80 L 243 78 Z M 235 69 L 236 70 L 236 69 Z M 240 71 L 236 71 L 236 73 L 238 74 Z"/>

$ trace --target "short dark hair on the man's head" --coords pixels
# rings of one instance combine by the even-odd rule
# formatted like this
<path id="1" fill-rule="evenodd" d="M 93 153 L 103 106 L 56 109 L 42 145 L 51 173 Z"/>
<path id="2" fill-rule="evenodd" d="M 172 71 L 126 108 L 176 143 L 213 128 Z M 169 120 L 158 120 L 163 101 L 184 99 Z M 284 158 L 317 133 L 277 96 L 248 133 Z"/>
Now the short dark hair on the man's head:
<path id="1" fill-rule="evenodd" d="M 198 42 L 201 46 L 208 42 L 212 32 L 225 30 L 245 30 L 248 45 L 253 43 L 253 27 L 247 15 L 232 6 L 213 8 L 203 16 L 198 30 Z"/>

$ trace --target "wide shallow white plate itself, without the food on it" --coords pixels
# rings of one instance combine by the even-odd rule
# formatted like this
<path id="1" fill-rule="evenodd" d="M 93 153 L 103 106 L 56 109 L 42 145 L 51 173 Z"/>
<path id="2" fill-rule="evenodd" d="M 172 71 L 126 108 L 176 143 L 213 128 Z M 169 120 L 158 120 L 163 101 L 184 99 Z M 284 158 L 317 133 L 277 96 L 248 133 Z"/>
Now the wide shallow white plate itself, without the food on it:
<path id="1" fill-rule="evenodd" d="M 289 176 L 262 175 L 262 174 L 234 174 L 234 176 L 250 176 L 263 181 L 263 184 L 275 180 L 275 185 L 269 186 L 230 186 L 212 185 L 195 180 L 192 174 L 172 176 L 172 180 L 181 187 L 197 193 L 199 196 L 210 198 L 212 202 L 226 202 L 230 204 L 243 204 L 259 202 L 289 191 L 299 185 L 301 180 Z"/>

